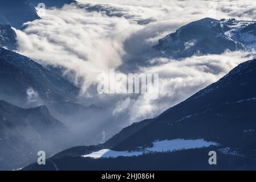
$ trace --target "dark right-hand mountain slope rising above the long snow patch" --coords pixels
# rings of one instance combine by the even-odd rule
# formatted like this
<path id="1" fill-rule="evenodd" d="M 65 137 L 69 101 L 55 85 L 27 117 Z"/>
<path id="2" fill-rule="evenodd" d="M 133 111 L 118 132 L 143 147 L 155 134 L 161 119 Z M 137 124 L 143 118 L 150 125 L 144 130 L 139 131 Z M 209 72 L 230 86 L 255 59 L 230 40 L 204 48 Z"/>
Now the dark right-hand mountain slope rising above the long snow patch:
<path id="1" fill-rule="evenodd" d="M 255 76 L 256 60 L 247 61 L 220 81 L 166 110 L 148 125 L 136 123 L 105 145 L 116 150 L 131 150 L 155 140 L 204 138 L 229 147 L 254 148 Z M 136 125 L 145 127 L 127 138 Z"/>

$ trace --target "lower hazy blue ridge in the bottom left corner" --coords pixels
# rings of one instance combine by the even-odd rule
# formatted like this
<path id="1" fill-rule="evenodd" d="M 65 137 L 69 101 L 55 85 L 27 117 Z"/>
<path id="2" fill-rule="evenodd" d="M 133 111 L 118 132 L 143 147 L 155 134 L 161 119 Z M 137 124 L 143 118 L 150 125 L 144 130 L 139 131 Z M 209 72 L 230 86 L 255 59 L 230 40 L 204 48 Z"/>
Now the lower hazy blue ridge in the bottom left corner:
<path id="1" fill-rule="evenodd" d="M 66 126 L 46 106 L 22 109 L 0 101 L 0 170 L 35 162 L 42 149 L 48 156 L 54 154 L 61 150 L 65 134 Z"/>

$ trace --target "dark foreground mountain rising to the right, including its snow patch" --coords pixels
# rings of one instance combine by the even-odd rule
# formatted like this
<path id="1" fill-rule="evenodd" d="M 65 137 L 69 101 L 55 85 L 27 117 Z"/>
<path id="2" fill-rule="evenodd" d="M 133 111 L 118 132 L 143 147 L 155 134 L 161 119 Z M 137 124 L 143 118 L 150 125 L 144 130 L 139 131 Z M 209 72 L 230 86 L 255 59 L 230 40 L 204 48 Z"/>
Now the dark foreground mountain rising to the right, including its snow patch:
<path id="1" fill-rule="evenodd" d="M 256 60 L 158 117 L 98 146 L 74 147 L 23 170 L 255 170 Z M 209 151 L 218 165 L 208 164 Z"/>

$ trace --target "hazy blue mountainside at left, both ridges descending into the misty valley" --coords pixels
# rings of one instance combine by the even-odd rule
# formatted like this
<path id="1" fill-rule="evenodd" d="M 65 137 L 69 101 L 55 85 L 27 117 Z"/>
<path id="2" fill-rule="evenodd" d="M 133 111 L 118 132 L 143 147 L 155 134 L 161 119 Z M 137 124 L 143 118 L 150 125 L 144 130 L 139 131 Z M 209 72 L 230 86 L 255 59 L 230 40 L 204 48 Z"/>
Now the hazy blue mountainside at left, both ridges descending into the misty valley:
<path id="1" fill-rule="evenodd" d="M 6 148 L 0 151 L 0 170 L 35 162 L 39 149 L 52 155 L 74 145 L 98 143 L 101 133 L 108 132 L 105 121 L 111 116 L 106 110 L 78 104 L 79 88 L 5 48 L 0 48 L 0 85 L 0 100 L 5 100 L 0 105 L 0 147 Z M 68 131 L 60 133 L 64 125 Z M 15 161 L 15 155 L 21 158 L 18 151 L 24 158 Z"/>

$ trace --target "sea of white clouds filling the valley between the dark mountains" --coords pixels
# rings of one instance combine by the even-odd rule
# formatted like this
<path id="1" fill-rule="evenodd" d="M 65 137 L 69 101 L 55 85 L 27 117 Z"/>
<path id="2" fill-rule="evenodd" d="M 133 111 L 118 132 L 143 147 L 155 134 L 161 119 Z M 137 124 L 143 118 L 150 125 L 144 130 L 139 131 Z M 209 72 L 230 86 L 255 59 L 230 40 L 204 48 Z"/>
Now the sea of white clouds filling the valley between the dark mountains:
<path id="1" fill-rule="evenodd" d="M 113 117 L 127 126 L 156 117 L 194 93 L 216 82 L 243 61 L 250 52 L 226 51 L 222 55 L 192 56 L 174 60 L 149 57 L 135 73 L 159 73 L 159 98 L 127 94 L 98 94 L 97 75 L 109 69 L 135 64 L 134 57 L 152 51 L 159 39 L 177 28 L 206 17 L 256 18 L 253 0 L 79 0 L 78 5 L 48 9 L 42 19 L 15 30 L 18 52 L 43 65 L 64 67 L 66 76 L 80 88 L 87 105 L 108 107 Z M 140 60 L 141 61 L 141 60 Z M 142 60 L 143 61 L 143 60 Z M 154 64 L 157 63 L 157 64 Z M 71 75 L 71 73 L 75 72 Z"/>

